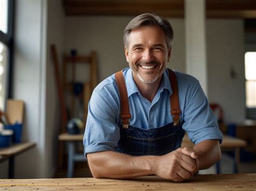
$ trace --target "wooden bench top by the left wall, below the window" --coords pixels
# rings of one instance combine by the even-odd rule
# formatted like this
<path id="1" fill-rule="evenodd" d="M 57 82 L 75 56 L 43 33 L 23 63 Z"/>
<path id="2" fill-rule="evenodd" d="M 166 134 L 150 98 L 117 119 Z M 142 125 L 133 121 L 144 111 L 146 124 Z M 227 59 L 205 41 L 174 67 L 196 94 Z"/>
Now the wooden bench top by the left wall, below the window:
<path id="1" fill-rule="evenodd" d="M 0 148 L 0 161 L 11 157 L 12 155 L 26 151 L 35 145 L 36 143 L 17 143 L 6 148 Z"/>

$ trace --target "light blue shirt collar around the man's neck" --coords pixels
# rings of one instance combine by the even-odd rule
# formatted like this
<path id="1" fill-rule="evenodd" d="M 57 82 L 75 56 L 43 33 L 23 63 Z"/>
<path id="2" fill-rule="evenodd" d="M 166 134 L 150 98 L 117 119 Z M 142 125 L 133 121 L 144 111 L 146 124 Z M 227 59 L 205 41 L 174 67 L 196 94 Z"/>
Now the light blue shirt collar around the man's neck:
<path id="1" fill-rule="evenodd" d="M 125 84 L 126 84 L 126 88 L 127 88 L 127 95 L 128 97 L 134 93 L 139 93 L 139 89 L 136 85 L 136 83 L 134 82 L 134 79 L 132 77 L 132 70 L 131 68 L 129 68 L 127 70 L 127 73 L 125 75 Z M 170 84 L 170 80 L 169 80 L 169 73 L 168 73 L 168 69 L 164 70 L 164 75 L 163 75 L 163 79 L 160 83 L 160 87 L 158 89 L 158 93 L 160 94 L 164 89 L 167 89 L 169 91 L 169 94 L 172 94 L 172 88 L 171 88 L 171 84 Z"/>

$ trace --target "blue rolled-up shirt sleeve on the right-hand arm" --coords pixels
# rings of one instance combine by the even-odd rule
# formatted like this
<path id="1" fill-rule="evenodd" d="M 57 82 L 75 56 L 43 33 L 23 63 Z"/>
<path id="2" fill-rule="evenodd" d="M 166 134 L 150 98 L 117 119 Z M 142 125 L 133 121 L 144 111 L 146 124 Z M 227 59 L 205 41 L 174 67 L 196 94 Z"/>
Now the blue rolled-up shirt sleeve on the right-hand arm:
<path id="1" fill-rule="evenodd" d="M 198 80 L 193 81 L 187 97 L 183 129 L 194 144 L 209 139 L 218 139 L 220 143 L 223 140 L 217 119 Z"/>

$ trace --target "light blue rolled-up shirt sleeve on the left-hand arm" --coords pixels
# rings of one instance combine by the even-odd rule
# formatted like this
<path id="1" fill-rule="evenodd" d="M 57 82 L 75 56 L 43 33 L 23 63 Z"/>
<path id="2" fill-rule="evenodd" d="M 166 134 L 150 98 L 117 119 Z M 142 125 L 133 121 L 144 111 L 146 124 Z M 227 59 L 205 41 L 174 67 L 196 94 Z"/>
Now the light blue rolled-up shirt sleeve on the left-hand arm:
<path id="1" fill-rule="evenodd" d="M 117 125 L 118 110 L 113 97 L 107 91 L 93 91 L 83 138 L 85 158 L 87 153 L 116 149 L 120 138 Z"/>

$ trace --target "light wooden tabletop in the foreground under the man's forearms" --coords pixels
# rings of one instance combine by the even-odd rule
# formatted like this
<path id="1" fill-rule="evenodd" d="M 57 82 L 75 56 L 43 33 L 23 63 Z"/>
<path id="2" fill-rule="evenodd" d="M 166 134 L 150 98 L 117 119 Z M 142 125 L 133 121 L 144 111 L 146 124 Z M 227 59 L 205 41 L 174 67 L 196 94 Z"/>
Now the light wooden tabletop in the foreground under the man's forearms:
<path id="1" fill-rule="evenodd" d="M 0 190 L 255 190 L 256 174 L 197 175 L 177 183 L 158 176 L 131 180 L 73 179 L 0 179 Z"/>

